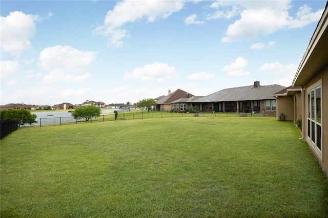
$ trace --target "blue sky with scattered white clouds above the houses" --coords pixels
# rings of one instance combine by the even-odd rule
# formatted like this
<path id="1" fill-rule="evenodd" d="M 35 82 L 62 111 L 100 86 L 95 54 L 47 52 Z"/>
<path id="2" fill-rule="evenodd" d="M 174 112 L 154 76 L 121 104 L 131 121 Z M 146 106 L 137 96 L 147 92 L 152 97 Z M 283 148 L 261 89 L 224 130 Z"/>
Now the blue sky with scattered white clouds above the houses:
<path id="1" fill-rule="evenodd" d="M 0 104 L 290 86 L 325 1 L 1 1 Z"/>

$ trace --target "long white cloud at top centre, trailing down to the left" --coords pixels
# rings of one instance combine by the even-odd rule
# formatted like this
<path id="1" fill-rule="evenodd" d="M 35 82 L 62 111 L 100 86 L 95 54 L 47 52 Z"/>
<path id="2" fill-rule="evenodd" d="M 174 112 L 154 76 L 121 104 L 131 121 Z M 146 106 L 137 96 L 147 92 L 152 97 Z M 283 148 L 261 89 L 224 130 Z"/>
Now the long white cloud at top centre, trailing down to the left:
<path id="1" fill-rule="evenodd" d="M 141 19 L 154 22 L 165 19 L 183 7 L 182 1 L 131 1 L 117 2 L 112 11 L 108 11 L 105 24 L 98 26 L 94 34 L 108 36 L 109 45 L 119 47 L 123 45 L 122 38 L 129 37 L 126 29 L 121 29 L 127 23 L 134 23 Z"/>

